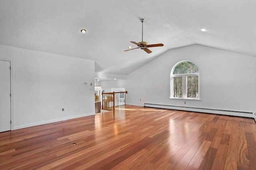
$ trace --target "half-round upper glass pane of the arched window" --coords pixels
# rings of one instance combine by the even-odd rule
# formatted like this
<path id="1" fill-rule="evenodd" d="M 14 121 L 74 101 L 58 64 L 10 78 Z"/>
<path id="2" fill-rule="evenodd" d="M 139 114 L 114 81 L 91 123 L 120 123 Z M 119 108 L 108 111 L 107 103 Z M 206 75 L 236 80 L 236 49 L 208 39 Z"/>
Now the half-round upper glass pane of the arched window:
<path id="1" fill-rule="evenodd" d="M 179 63 L 173 70 L 173 74 L 187 74 L 196 72 L 198 72 L 198 67 L 189 61 Z"/>

